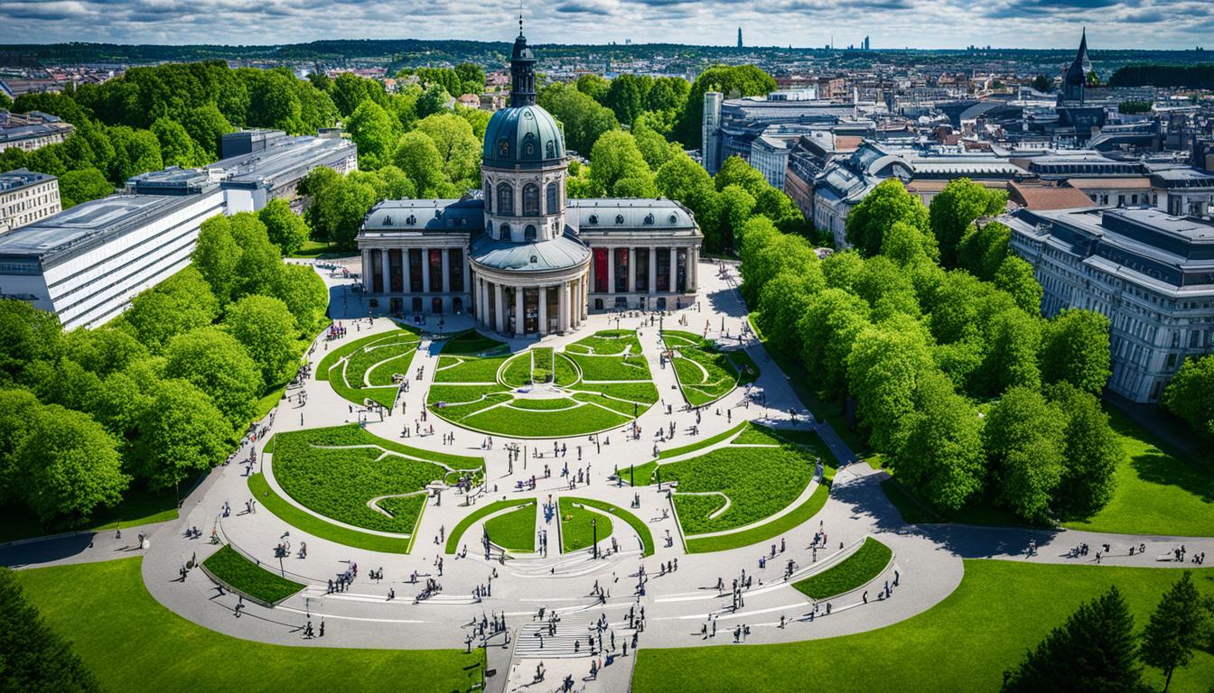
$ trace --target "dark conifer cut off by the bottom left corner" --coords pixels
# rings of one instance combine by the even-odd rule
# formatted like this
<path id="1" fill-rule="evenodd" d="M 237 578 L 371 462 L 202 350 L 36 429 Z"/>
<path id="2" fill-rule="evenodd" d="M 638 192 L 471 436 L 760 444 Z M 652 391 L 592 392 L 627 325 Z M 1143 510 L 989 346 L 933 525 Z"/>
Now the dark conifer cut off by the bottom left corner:
<path id="1" fill-rule="evenodd" d="M 0 101 L 4 101 L 2 95 Z M 7 568 L 0 568 L 0 652 L 4 653 L 0 689 L 6 693 L 100 693 L 102 689 L 72 651 L 72 643 L 46 625 L 22 592 L 16 573 Z"/>

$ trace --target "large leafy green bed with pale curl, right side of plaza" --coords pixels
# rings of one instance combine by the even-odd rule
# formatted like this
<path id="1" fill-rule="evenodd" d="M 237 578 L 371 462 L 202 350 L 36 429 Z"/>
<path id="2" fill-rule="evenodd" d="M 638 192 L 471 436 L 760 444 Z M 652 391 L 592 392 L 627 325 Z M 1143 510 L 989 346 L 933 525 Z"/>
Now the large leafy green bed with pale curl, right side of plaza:
<path id="1" fill-rule="evenodd" d="M 662 465 L 662 479 L 677 481 L 675 509 L 683 534 L 734 529 L 779 512 L 796 500 L 813 478 L 813 456 L 799 445 L 719 448 L 704 455 Z M 720 492 L 720 495 L 686 495 Z"/>

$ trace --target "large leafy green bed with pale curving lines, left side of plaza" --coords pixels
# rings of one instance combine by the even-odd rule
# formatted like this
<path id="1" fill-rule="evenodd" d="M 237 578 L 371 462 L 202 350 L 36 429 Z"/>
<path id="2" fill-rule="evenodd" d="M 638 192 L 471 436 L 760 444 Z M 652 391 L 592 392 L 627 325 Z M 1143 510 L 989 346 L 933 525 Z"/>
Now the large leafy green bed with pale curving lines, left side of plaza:
<path id="1" fill-rule="evenodd" d="M 398 454 L 385 454 L 390 451 Z M 283 492 L 325 517 L 380 532 L 410 534 L 424 501 L 420 494 L 404 500 L 386 499 L 379 507 L 388 515 L 373 510 L 368 501 L 415 494 L 426 484 L 444 479 L 447 468 L 435 462 L 475 475 L 481 473 L 483 465 L 480 458 L 430 453 L 384 441 L 358 426 L 293 431 L 274 437 L 273 473 Z"/>

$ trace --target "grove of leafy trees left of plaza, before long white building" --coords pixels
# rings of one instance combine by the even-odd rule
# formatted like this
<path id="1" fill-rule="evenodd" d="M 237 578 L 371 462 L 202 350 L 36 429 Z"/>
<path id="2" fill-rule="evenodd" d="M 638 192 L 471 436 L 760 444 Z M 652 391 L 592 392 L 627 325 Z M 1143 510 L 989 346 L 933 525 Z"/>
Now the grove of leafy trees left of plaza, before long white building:
<path id="1" fill-rule="evenodd" d="M 0 301 L 0 500 L 70 527 L 226 459 L 324 319 L 324 282 L 270 239 L 282 211 L 208 220 L 193 265 L 98 329 Z"/>

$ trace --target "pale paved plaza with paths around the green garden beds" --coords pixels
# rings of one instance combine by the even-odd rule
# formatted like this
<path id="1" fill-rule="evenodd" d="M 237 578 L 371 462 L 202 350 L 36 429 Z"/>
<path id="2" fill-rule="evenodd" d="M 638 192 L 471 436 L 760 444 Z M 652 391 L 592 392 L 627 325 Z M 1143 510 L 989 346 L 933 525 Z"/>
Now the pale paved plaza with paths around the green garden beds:
<path id="1" fill-rule="evenodd" d="M 357 265 L 351 269 L 357 271 Z M 442 333 L 437 318 L 427 317 L 408 374 L 414 377 L 420 369 L 421 379 L 410 380 L 409 390 L 402 392 L 391 413 L 361 411 L 329 382 L 317 380 L 314 367 L 330 350 L 397 329 L 386 318 L 368 317 L 371 311 L 367 299 L 341 272 L 318 271 L 330 285 L 330 314 L 348 329 L 346 335 L 316 342 L 308 356 L 312 376 L 301 387 L 288 390 L 288 397 L 256 426 L 256 439 L 245 438 L 234 456 L 237 461 L 216 468 L 189 494 L 177 519 L 126 528 L 121 536 L 73 535 L 10 546 L 0 550 L 4 562 L 33 567 L 142 552 L 143 579 L 157 601 L 191 621 L 236 637 L 304 647 L 486 647 L 488 666 L 495 670 L 487 681 L 489 689 L 555 691 L 566 676 L 573 676 L 578 689 L 626 691 L 636 647 L 777 643 L 879 629 L 927 610 L 952 593 L 963 578 L 964 558 L 1095 563 L 1099 549 L 1078 557 L 1070 556 L 1071 549 L 1079 544 L 1091 547 L 1108 544 L 1101 564 L 1174 568 L 1186 566 L 1168 559 L 1181 544 L 1190 553 L 1214 552 L 1212 539 L 906 524 L 880 488 L 886 473 L 860 461 L 828 424 L 801 409 L 787 376 L 747 330 L 736 265 L 722 268 L 702 262 L 696 301 L 660 317 L 666 329 L 707 330 L 707 336 L 720 343 L 741 343 L 760 368 L 753 385 L 733 390 L 698 413 L 683 407 L 675 369 L 663 363 L 654 316 L 592 314 L 578 330 L 539 341 L 489 335 L 507 341 L 512 351 L 537 345 L 560 351 L 596 330 L 636 330 L 659 396 L 658 404 L 636 419 L 641 434 L 632 436 L 630 424 L 597 436 L 561 438 L 557 442 L 566 445 L 563 456 L 554 454 L 552 438 L 493 437 L 489 448 L 484 433 L 435 415 L 420 421 L 441 353 L 441 337 L 471 328 L 467 317 L 448 316 Z M 659 451 L 687 445 L 747 420 L 777 431 L 816 431 L 840 465 L 826 505 L 775 539 L 726 551 L 690 553 L 683 547 L 669 485 L 634 489 L 609 481 L 617 468 L 652 460 L 654 445 Z M 273 476 L 274 455 L 265 453 L 263 445 L 271 434 L 359 421 L 365 421 L 368 432 L 386 441 L 484 458 L 482 485 L 469 493 L 446 488 L 426 499 L 409 553 L 375 552 L 311 535 L 277 517 L 250 493 L 248 473 L 261 472 L 271 488 L 299 511 L 317 515 L 282 490 Z M 431 426 L 432 434 L 403 437 L 405 428 L 429 431 Z M 676 431 L 673 438 L 654 436 L 671 426 Z M 507 453 L 511 444 L 527 449 L 512 465 Z M 727 445 L 728 439 L 722 439 L 663 462 L 696 458 Z M 251 467 L 239 462 L 249 459 L 254 460 Z M 543 475 L 545 465 L 552 471 L 549 478 Z M 557 472 L 566 465 L 574 475 L 584 470 L 589 482 L 571 489 L 569 478 Z M 533 476 L 537 479 L 531 489 L 528 482 Z M 626 479 L 625 476 L 623 481 Z M 792 512 L 823 483 L 817 478 L 810 482 L 792 505 L 754 526 Z M 526 490 L 520 490 L 520 484 Z M 619 518 L 611 536 L 599 538 L 601 557 L 595 558 L 590 550 L 561 553 L 556 540 L 560 518 L 548 519 L 543 512 L 537 513 L 537 533 L 550 535 L 551 550 L 546 556 L 510 553 L 503 558 L 500 550 L 493 549 L 487 559 L 481 544 L 483 523 L 499 513 L 473 522 L 463 532 L 456 553 L 446 552 L 448 533 L 489 502 L 534 499 L 543 506 L 566 496 L 606 501 L 634 513 L 653 536 L 653 555 L 642 555 L 636 533 Z M 231 512 L 225 517 L 226 504 Z M 333 518 L 325 521 L 363 534 L 391 536 L 344 526 Z M 187 529 L 195 527 L 199 535 L 187 535 Z M 212 532 L 223 544 L 231 544 L 268 570 L 302 583 L 305 589 L 277 607 L 266 608 L 219 589 L 202 570 L 188 570 L 182 579 L 183 566 L 200 562 L 219 549 L 209 540 Z M 148 539 L 146 549 L 136 544 L 141 533 Z M 824 541 L 813 546 L 816 535 L 824 535 Z M 838 564 L 866 536 L 878 539 L 894 552 L 892 561 L 874 579 L 817 603 L 793 587 L 793 583 Z M 278 555 L 277 549 L 288 543 L 288 555 Z M 1037 546 L 1034 555 L 1026 552 L 1031 543 Z M 300 551 L 304 544 L 306 556 Z M 1141 545 L 1145 551 L 1139 550 Z M 1135 549 L 1133 556 L 1130 546 Z M 765 567 L 760 567 L 761 557 Z M 666 564 L 677 569 L 666 570 Z M 357 578 L 348 589 L 330 592 L 330 580 L 353 572 L 356 566 Z M 369 578 L 379 570 L 382 579 Z M 419 600 L 427 580 L 441 585 L 441 591 Z M 732 589 L 736 580 L 745 585 L 737 593 Z M 314 629 L 323 623 L 323 637 L 308 636 L 305 630 L 308 623 Z M 504 623 L 505 627 L 494 627 L 494 623 Z M 482 627 L 482 624 L 488 625 Z M 591 666 L 601 666 L 595 678 L 590 677 Z M 545 671 L 538 685 L 537 668 Z"/>

